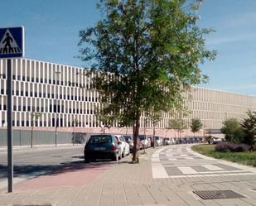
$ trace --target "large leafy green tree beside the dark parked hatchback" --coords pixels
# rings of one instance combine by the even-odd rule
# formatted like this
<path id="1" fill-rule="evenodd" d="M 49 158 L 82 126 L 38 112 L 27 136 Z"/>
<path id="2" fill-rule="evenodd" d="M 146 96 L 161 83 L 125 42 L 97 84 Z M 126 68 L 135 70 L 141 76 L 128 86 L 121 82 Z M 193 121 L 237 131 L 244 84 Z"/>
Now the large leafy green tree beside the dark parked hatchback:
<path id="1" fill-rule="evenodd" d="M 133 161 L 142 112 L 181 107 L 181 93 L 207 79 L 199 66 L 216 52 L 205 49 L 212 30 L 196 26 L 199 2 L 101 0 L 102 19 L 80 31 L 80 60 L 95 74 L 101 116 L 135 127 Z"/>

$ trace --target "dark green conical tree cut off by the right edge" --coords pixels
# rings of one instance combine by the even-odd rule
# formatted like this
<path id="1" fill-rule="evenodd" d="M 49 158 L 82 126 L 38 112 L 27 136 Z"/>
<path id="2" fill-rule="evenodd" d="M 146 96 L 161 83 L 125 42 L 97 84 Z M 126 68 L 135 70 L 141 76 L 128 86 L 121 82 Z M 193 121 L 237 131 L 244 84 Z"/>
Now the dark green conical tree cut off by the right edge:
<path id="1" fill-rule="evenodd" d="M 244 143 L 253 145 L 256 137 L 256 112 L 248 111 L 247 116 L 240 125 L 244 131 Z"/>

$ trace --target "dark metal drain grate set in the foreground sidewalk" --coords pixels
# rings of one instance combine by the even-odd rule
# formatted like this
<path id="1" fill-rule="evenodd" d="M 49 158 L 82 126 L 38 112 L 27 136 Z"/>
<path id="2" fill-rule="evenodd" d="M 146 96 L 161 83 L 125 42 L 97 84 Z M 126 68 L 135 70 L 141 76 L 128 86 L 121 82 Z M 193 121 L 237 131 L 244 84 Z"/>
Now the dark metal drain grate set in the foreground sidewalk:
<path id="1" fill-rule="evenodd" d="M 241 194 L 237 194 L 232 190 L 200 190 L 193 191 L 201 199 L 237 199 L 245 198 Z"/>

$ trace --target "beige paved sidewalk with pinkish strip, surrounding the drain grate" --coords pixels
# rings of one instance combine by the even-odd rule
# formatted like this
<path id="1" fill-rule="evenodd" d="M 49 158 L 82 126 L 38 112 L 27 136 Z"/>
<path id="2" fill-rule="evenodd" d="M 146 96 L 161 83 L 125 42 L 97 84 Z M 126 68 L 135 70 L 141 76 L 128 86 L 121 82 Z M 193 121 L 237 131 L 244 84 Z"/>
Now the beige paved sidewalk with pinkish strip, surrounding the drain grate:
<path id="1" fill-rule="evenodd" d="M 171 157 L 170 151 L 177 151 L 176 158 Z M 249 168 L 249 175 L 230 172 L 229 175 L 223 173 L 216 176 L 211 173 L 211 176 L 179 174 L 176 178 L 171 178 L 173 173 L 170 173 L 171 175 L 166 177 L 156 178 L 152 173 L 154 170 L 152 160 L 153 163 L 156 163 L 157 155 L 160 156 L 158 164 L 165 162 L 170 166 L 178 163 L 176 166 L 181 167 L 180 163 L 183 162 L 182 164 L 187 165 L 184 167 L 189 167 L 191 159 L 184 158 L 183 160 L 180 157 L 182 157 L 181 155 L 189 157 L 195 154 L 186 146 L 167 146 L 158 147 L 155 150 L 148 149 L 147 154 L 140 156 L 140 163 L 137 165 L 128 164 L 131 156 L 123 158 L 118 163 L 83 164 L 77 170 L 64 170 L 54 175 L 41 176 L 16 184 L 13 194 L 0 192 L 0 205 L 256 205 L 256 175 L 254 174 L 256 169 Z M 176 159 L 178 162 L 162 158 L 164 156 L 169 156 L 168 159 Z M 207 160 L 208 169 L 214 170 L 215 167 L 209 167 L 209 165 L 215 165 L 215 161 L 207 158 L 204 160 Z M 225 165 L 225 162 L 222 164 Z M 239 165 L 234 164 L 233 166 L 239 168 Z M 245 167 L 243 168 L 240 170 L 245 170 Z M 192 169 L 196 170 L 196 167 Z M 184 171 L 187 173 L 192 170 L 186 168 Z M 227 189 L 242 194 L 244 198 L 204 200 L 193 193 L 195 190 Z"/>

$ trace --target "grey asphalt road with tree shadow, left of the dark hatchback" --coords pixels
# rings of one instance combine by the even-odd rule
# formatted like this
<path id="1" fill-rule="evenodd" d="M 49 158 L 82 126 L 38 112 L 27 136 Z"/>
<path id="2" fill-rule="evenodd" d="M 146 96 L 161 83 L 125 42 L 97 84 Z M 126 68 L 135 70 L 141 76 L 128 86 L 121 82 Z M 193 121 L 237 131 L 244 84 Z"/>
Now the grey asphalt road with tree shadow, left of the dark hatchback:
<path id="1" fill-rule="evenodd" d="M 84 166 L 84 146 L 25 148 L 13 151 L 14 178 L 28 179 Z M 0 183 L 7 180 L 7 151 L 0 152 Z"/>

